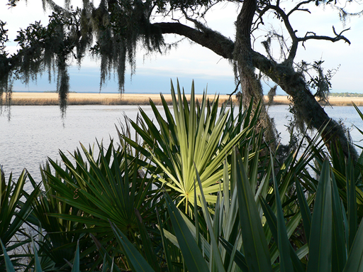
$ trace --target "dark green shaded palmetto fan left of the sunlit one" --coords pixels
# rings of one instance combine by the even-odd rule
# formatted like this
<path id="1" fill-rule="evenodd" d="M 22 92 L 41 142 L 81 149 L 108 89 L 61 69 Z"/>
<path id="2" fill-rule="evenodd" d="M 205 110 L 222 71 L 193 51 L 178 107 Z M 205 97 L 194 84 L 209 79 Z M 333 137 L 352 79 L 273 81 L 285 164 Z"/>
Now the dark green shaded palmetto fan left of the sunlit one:
<path id="1" fill-rule="evenodd" d="M 48 217 L 72 226 L 68 232 L 69 245 L 75 248 L 79 240 L 81 264 L 92 267 L 99 265 L 101 259 L 95 261 L 96 244 L 89 245 L 87 233 L 92 233 L 101 245 L 106 246 L 107 251 L 113 251 L 115 237 L 108 223 L 111 220 L 128 239 L 142 247 L 137 235 L 139 229 L 144 227 L 143 224 L 148 228 L 155 222 L 155 207 L 161 205 L 156 201 L 157 191 L 152 190 L 152 179 L 147 178 L 147 172 L 145 175 L 140 172 L 141 165 L 147 168 L 145 162 L 131 157 L 125 153 L 125 149 L 115 150 L 112 141 L 105 151 L 102 144 L 99 150 L 99 156 L 94 158 L 93 152 L 82 146 L 83 156 L 79 151 L 74 153 L 76 165 L 61 153 L 66 170 L 51 160 L 56 175 L 44 170 L 48 186 L 55 192 L 55 202 L 62 202 L 61 207 L 66 207 L 65 211 L 51 212 Z M 69 212 L 67 209 L 70 209 Z M 138 214 L 139 217 L 143 214 L 142 224 L 138 222 Z M 65 234 L 65 231 L 61 231 L 58 235 Z M 74 252 L 74 249 L 70 252 Z M 113 256 L 119 257 L 117 250 Z"/>

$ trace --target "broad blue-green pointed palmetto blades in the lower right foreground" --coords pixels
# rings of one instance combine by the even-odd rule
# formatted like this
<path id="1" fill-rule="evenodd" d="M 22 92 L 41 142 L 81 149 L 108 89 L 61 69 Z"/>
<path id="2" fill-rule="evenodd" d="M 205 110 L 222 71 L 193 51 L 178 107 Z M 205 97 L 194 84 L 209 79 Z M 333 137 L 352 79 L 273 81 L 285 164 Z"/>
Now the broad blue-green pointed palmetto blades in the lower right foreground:
<path id="1" fill-rule="evenodd" d="M 182 264 L 188 271 L 362 271 L 363 224 L 354 219 L 357 210 L 345 211 L 345 205 L 354 206 L 356 197 L 352 193 L 346 202 L 342 200 L 327 160 L 323 162 L 313 195 L 314 205 L 303 192 L 300 181 L 295 183 L 295 205 L 299 207 L 297 222 L 303 222 L 307 238 L 306 244 L 301 245 L 291 241 L 291 234 L 301 232 L 301 229 L 297 224 L 291 224 L 296 221 L 296 214 L 289 215 L 290 200 L 281 201 L 283 186 L 279 186 L 273 167 L 267 171 L 273 181 L 265 197 L 261 193 L 255 195 L 252 190 L 238 151 L 233 153 L 231 167 L 230 179 L 235 180 L 235 188 L 230 190 L 231 195 L 226 195 L 228 190 L 225 189 L 221 197 L 221 192 L 213 214 L 208 212 L 202 188 L 199 193 L 208 233 L 201 231 L 197 219 L 191 222 L 169 195 L 164 196 L 174 232 L 164 230 L 164 236 L 180 249 Z M 196 186 L 201 187 L 199 175 L 196 179 Z M 347 186 L 354 192 L 354 184 Z M 274 197 L 274 201 L 268 202 L 269 197 Z M 261 203 L 263 215 L 257 203 Z M 194 218 L 198 218 L 197 214 Z M 118 236 L 123 240 L 123 249 L 133 271 L 155 271 L 125 235 L 118 231 Z M 167 255 L 168 249 L 164 250 Z M 168 263 L 168 270 L 177 271 L 174 269 L 177 269 L 174 263 Z"/>

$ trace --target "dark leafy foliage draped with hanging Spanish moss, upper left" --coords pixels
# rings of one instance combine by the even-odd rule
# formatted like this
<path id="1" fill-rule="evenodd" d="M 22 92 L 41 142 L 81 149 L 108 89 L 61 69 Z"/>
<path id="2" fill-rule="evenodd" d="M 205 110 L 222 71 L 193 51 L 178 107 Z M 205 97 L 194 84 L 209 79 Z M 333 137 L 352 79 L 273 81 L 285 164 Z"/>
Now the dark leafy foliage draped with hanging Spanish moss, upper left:
<path id="1" fill-rule="evenodd" d="M 9 1 L 9 6 L 16 6 Z M 166 3 L 159 3 L 160 9 Z M 150 16 L 155 8 L 153 1 L 101 1 L 95 7 L 91 1 L 83 2 L 83 9 L 65 8 L 53 1 L 43 1 L 52 14 L 46 26 L 40 21 L 30 23 L 18 31 L 14 41 L 20 49 L 11 56 L 0 54 L 0 94 L 8 93 L 13 78 L 28 84 L 38 74 L 48 72 L 49 81 L 54 73 L 62 114 L 67 107 L 69 93 L 69 61 L 81 65 L 84 55 L 91 53 L 101 59 L 100 89 L 115 71 L 118 87 L 123 92 L 125 69 L 130 65 L 135 72 L 135 50 L 138 41 L 150 52 L 162 52 L 164 38 L 160 31 L 150 27 Z M 5 23 L 0 22 L 0 53 L 7 41 Z M 94 39 L 95 43 L 94 43 Z"/>

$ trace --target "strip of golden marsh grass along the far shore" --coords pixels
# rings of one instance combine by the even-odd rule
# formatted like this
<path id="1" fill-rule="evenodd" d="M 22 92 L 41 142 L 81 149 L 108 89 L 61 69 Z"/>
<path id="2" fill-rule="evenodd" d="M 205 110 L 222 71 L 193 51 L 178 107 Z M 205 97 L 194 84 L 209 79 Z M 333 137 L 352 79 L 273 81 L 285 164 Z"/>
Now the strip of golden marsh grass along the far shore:
<path id="1" fill-rule="evenodd" d="M 172 104 L 172 95 L 163 94 L 167 104 Z M 202 94 L 196 94 L 196 99 L 201 100 Z M 186 94 L 190 99 L 190 94 Z M 211 100 L 215 94 L 208 94 Z M 220 94 L 219 104 L 228 101 L 229 95 Z M 161 105 L 160 94 L 105 94 L 105 93 L 69 93 L 68 105 L 130 105 L 140 106 L 149 104 L 149 99 L 156 105 Z M 268 101 L 264 96 L 265 102 Z M 237 102 L 235 95 L 232 96 L 233 102 Z M 3 103 L 5 95 L 3 95 Z M 352 106 L 352 102 L 357 106 L 363 106 L 363 97 L 330 97 L 329 104 L 332 106 Z M 50 92 L 13 92 L 11 94 L 11 105 L 13 106 L 49 106 L 58 105 L 58 94 Z M 273 105 L 290 104 L 287 96 L 277 95 L 274 97 Z"/>

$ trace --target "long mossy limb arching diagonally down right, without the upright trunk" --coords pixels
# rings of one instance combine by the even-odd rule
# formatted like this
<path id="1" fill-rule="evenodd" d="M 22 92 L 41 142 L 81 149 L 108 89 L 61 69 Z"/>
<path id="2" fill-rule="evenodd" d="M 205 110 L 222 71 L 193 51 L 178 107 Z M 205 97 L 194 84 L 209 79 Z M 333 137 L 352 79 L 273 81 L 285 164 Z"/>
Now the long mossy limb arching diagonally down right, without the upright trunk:
<path id="1" fill-rule="evenodd" d="M 202 32 L 181 23 L 154 23 L 152 27 L 157 27 L 161 33 L 174 33 L 185 36 L 195 43 L 213 50 L 213 52 L 223 58 L 234 59 L 233 50 L 235 49 L 235 43 L 220 33 L 211 30 Z M 222 46 L 223 44 L 226 46 Z M 251 49 L 245 48 L 245 50 L 250 50 L 252 53 L 253 66 L 264 72 L 265 75 L 284 89 L 286 94 L 293 98 L 298 114 L 300 114 L 306 124 L 311 124 L 315 129 L 320 129 L 325 124 L 328 124 L 327 130 L 323 134 L 324 141 L 328 146 L 330 146 L 332 141 L 347 143 L 347 138 L 341 126 L 337 125 L 335 121 L 330 120 L 328 114 L 325 113 L 324 109 L 306 87 L 306 82 L 301 74 L 295 72 L 293 67 L 286 65 L 286 62 L 279 64 Z M 345 148 L 345 154 L 347 155 L 349 153 L 348 146 L 345 144 L 342 146 Z M 351 154 L 354 153 L 354 147 L 350 145 L 349 149 Z"/>

